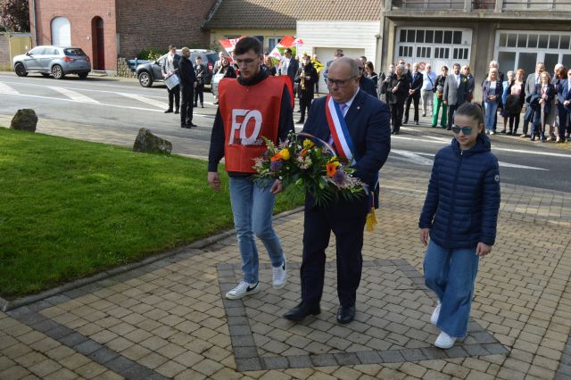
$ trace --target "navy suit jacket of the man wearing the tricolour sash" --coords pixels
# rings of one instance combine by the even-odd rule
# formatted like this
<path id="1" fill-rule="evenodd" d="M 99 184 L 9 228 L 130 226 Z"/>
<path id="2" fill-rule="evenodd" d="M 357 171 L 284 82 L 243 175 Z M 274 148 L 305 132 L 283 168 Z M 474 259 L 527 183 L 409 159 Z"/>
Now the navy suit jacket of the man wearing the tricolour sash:
<path id="1" fill-rule="evenodd" d="M 326 103 L 327 96 L 313 101 L 310 117 L 302 130 L 323 141 L 327 141 L 331 135 L 325 113 Z M 360 178 L 372 189 L 375 186 L 376 174 L 391 151 L 389 109 L 384 102 L 359 90 L 345 115 L 345 122 L 356 151 L 353 152 L 357 159 L 353 177 Z M 313 199 L 307 196 L 305 206 L 312 207 L 313 203 Z"/>

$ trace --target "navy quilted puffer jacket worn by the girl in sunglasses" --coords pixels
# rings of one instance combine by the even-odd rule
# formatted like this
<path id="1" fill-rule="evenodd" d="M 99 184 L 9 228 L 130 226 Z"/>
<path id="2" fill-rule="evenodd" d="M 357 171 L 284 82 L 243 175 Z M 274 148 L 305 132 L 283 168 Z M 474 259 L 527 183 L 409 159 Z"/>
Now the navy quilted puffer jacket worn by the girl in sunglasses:
<path id="1" fill-rule="evenodd" d="M 490 139 L 461 151 L 456 139 L 436 153 L 418 227 L 430 228 L 434 243 L 448 249 L 492 245 L 500 209 L 500 170 Z"/>

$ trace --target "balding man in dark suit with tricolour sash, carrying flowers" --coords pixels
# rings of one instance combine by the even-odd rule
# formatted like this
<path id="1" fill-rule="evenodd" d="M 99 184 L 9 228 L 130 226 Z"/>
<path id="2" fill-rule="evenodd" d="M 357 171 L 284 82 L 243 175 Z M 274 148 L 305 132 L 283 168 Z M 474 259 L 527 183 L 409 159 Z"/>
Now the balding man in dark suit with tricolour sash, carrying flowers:
<path id="1" fill-rule="evenodd" d="M 367 184 L 377 186 L 378 171 L 391 150 L 391 127 L 388 107 L 377 98 L 368 96 L 359 88 L 357 63 L 348 57 L 338 58 L 329 68 L 327 87 L 330 96 L 315 100 L 311 106 L 303 132 L 324 141 L 331 137 L 327 122 L 327 103 L 339 105 L 354 146 L 356 163 L 353 176 Z M 338 147 L 335 146 L 337 153 Z M 375 193 L 375 192 L 373 192 Z M 363 245 L 363 229 L 370 211 L 371 201 L 364 196 L 351 202 L 340 199 L 327 207 L 319 207 L 307 194 L 303 223 L 302 253 L 302 302 L 284 317 L 301 321 L 309 315 L 320 313 L 319 302 L 323 292 L 326 254 L 331 231 L 336 240 L 337 295 L 340 307 L 337 321 L 345 324 L 355 316 L 355 301 L 360 283 Z"/>

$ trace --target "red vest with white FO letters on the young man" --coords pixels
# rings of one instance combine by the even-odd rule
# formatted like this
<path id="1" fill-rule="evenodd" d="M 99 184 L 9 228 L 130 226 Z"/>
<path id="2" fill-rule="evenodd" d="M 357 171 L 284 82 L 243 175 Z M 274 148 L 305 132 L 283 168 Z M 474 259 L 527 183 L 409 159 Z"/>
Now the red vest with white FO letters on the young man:
<path id="1" fill-rule="evenodd" d="M 219 83 L 219 111 L 224 123 L 224 156 L 227 171 L 255 173 L 253 159 L 266 152 L 261 136 L 277 144 L 284 78 L 268 77 L 254 86 L 237 79 Z"/>

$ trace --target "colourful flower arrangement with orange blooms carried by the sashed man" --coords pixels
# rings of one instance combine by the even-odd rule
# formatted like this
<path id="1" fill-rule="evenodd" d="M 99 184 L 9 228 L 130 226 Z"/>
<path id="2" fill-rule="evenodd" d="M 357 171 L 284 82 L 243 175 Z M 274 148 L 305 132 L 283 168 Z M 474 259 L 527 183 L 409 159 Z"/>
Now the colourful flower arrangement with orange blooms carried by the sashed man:
<path id="1" fill-rule="evenodd" d="M 326 142 L 294 132 L 280 145 L 274 145 L 267 138 L 264 141 L 268 150 L 254 160 L 257 179 L 281 179 L 284 187 L 300 186 L 319 206 L 327 206 L 340 198 L 352 200 L 367 193 L 360 179 L 352 177 L 355 169 L 335 155 Z"/>

